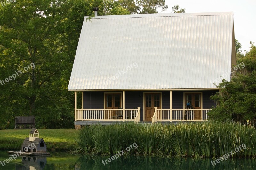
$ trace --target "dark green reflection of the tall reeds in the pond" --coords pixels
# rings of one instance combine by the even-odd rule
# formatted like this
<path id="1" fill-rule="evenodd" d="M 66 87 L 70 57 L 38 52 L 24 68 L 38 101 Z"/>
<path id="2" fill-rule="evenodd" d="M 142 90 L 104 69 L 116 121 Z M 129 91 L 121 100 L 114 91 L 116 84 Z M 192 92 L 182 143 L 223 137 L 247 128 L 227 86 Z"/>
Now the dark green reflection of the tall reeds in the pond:
<path id="1" fill-rule="evenodd" d="M 81 156 L 79 159 L 80 169 L 256 169 L 255 159 L 229 159 L 222 161 L 219 164 L 212 166 L 211 159 L 192 159 L 192 158 L 158 158 L 158 157 L 142 157 L 142 156 L 129 156 L 121 157 L 112 160 L 108 165 L 102 163 L 102 159 L 106 160 L 109 157 L 98 156 Z"/>

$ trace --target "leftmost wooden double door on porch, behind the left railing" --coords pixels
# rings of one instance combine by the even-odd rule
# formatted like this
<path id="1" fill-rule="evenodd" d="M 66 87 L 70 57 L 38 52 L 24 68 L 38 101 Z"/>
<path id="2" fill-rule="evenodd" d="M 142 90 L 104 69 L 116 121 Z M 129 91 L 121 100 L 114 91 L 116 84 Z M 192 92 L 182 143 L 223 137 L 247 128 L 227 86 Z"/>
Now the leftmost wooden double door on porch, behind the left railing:
<path id="1" fill-rule="evenodd" d="M 121 94 L 106 94 L 106 109 L 120 109 L 121 107 Z M 106 110 L 105 119 L 122 119 L 122 110 Z"/>

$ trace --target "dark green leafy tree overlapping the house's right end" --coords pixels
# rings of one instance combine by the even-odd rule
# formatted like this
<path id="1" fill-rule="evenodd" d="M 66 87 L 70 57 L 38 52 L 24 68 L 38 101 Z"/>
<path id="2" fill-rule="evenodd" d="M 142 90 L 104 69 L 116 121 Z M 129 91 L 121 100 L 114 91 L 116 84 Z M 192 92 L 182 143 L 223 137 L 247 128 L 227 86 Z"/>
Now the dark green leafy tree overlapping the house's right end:
<path id="1" fill-rule="evenodd" d="M 218 106 L 209 112 L 213 119 L 221 121 L 234 120 L 256 127 L 256 47 L 251 43 L 250 51 L 237 63 L 244 63 L 244 68 L 238 67 L 230 82 L 222 80 L 217 85 L 220 92 L 211 96 Z"/>

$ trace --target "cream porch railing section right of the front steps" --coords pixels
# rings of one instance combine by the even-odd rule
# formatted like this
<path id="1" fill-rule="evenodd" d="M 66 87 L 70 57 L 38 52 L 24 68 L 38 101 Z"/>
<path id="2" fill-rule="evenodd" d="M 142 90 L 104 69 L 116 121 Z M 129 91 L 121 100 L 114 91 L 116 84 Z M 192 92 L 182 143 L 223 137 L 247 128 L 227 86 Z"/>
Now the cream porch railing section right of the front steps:
<path id="1" fill-rule="evenodd" d="M 156 109 L 152 123 L 156 121 L 207 121 L 209 110 L 211 109 Z"/>

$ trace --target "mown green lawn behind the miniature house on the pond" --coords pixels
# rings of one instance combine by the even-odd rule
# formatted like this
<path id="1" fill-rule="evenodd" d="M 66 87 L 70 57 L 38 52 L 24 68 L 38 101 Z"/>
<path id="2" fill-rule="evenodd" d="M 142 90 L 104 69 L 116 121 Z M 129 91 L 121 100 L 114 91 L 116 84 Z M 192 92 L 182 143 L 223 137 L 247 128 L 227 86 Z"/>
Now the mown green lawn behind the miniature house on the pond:
<path id="1" fill-rule="evenodd" d="M 75 145 L 74 138 L 79 130 L 75 129 L 37 129 L 39 137 L 44 139 L 47 151 L 70 151 Z M 0 149 L 20 150 L 21 144 L 29 137 L 30 129 L 0 130 Z"/>

